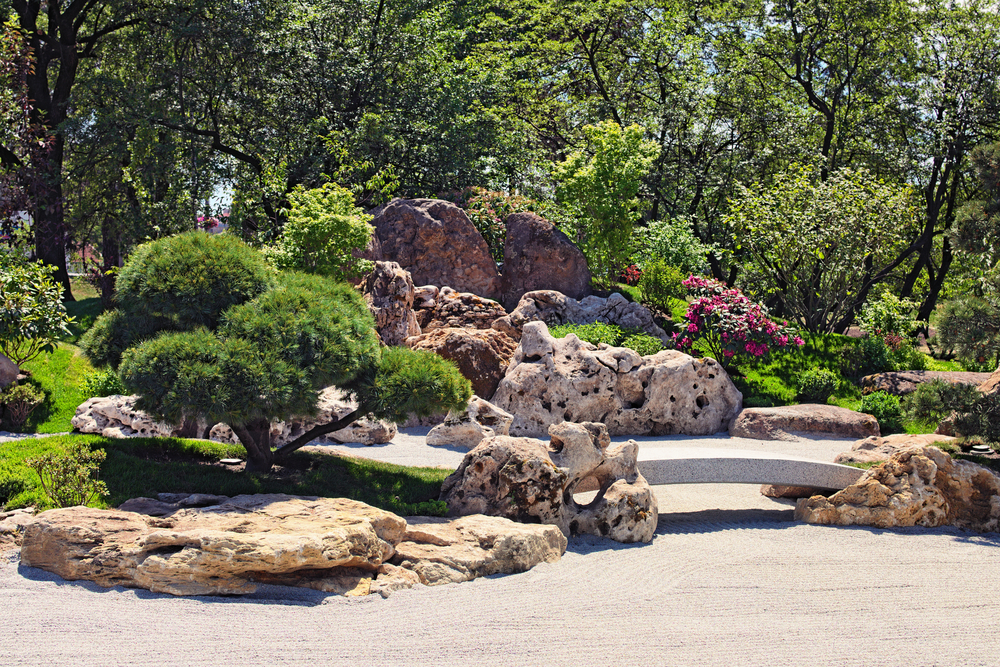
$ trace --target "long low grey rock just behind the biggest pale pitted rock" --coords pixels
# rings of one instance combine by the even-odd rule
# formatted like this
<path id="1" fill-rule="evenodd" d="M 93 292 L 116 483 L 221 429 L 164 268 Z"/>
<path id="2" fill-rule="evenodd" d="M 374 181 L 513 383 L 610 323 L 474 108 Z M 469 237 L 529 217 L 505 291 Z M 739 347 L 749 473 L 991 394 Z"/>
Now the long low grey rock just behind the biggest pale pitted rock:
<path id="1" fill-rule="evenodd" d="M 520 340 L 521 330 L 528 322 L 545 322 L 550 326 L 605 322 L 638 329 L 664 343 L 671 342 L 671 337 L 656 324 L 648 308 L 617 293 L 606 299 L 588 296 L 577 301 L 555 290 L 528 292 L 510 315 L 500 317 L 493 323 L 493 328 Z"/>

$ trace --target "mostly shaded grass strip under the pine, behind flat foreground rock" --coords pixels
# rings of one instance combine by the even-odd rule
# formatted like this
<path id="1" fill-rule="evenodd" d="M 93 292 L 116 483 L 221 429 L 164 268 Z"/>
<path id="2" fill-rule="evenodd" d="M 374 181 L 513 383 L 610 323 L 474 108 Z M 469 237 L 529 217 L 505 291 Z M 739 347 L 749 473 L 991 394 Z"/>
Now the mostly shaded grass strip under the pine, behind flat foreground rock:
<path id="1" fill-rule="evenodd" d="M 239 445 L 180 438 L 128 438 L 96 435 L 25 438 L 0 443 L 0 505 L 8 509 L 49 506 L 38 475 L 26 459 L 65 451 L 74 442 L 103 449 L 107 458 L 100 477 L 109 496 L 96 507 L 116 506 L 158 493 L 210 493 L 236 496 L 287 493 L 300 496 L 352 498 L 400 515 L 443 515 L 437 500 L 450 470 L 407 468 L 377 461 L 296 452 L 267 475 L 249 475 L 218 463 L 244 458 Z"/>

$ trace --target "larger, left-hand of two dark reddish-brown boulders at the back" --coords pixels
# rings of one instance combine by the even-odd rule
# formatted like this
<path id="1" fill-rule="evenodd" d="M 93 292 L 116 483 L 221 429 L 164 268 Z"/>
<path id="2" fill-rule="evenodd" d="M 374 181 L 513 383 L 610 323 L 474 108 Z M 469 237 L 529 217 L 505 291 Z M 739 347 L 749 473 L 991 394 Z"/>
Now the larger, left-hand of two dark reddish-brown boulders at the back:
<path id="1" fill-rule="evenodd" d="M 373 211 L 367 259 L 398 262 L 418 285 L 450 285 L 500 298 L 500 276 L 465 211 L 439 199 L 393 199 Z"/>

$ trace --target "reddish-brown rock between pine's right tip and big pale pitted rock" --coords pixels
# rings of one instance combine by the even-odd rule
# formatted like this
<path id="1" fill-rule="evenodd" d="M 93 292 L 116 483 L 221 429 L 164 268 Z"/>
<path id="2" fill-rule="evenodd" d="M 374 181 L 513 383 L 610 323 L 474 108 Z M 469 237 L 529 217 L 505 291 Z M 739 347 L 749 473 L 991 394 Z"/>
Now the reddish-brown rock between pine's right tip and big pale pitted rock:
<path id="1" fill-rule="evenodd" d="M 496 392 L 517 349 L 507 334 L 493 329 L 435 329 L 408 338 L 406 345 L 455 362 L 472 390 L 487 399 Z"/>

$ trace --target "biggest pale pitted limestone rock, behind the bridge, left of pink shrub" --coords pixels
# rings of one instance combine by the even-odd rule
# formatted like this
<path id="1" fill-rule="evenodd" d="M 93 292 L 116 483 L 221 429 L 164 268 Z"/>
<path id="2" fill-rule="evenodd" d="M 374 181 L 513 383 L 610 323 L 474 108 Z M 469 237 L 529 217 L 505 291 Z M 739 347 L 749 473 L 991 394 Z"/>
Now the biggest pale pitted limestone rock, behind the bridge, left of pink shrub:
<path id="1" fill-rule="evenodd" d="M 521 343 L 492 402 L 514 415 L 512 435 L 540 436 L 563 421 L 601 422 L 611 435 L 710 435 L 723 431 L 743 396 L 714 359 L 675 350 L 640 357 L 553 338 L 542 322 Z"/>

